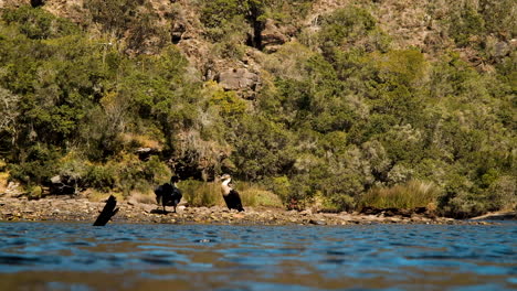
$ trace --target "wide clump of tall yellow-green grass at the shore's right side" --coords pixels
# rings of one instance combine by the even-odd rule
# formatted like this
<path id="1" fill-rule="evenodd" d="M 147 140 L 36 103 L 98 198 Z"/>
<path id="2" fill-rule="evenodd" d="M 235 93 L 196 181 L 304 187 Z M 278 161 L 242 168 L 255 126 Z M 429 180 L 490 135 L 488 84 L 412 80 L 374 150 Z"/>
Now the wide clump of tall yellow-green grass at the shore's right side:
<path id="1" fill-rule="evenodd" d="M 436 205 L 440 190 L 430 182 L 410 181 L 407 184 L 392 187 L 377 187 L 370 190 L 359 202 L 359 206 L 378 208 L 414 208 Z"/>

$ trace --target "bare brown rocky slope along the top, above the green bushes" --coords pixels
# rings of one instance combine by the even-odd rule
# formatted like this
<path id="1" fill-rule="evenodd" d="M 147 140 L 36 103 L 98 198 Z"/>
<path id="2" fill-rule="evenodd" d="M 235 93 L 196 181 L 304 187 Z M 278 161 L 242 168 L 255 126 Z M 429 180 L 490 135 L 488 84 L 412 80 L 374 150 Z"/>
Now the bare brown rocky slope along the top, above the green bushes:
<path id="1" fill-rule="evenodd" d="M 107 6 L 105 1 L 3 0 L 0 8 L 22 4 L 41 7 L 97 32 L 99 37 L 120 43 L 120 50 L 128 54 L 152 54 L 160 46 L 173 43 L 188 57 L 203 80 L 217 80 L 225 89 L 238 90 L 246 98 L 252 98 L 261 86 L 264 55 L 275 53 L 285 43 L 297 41 L 304 34 L 316 33 L 323 17 L 350 4 L 365 7 L 372 13 L 380 28 L 389 35 L 391 48 L 419 47 L 430 57 L 436 52 L 452 48 L 458 51 L 468 62 L 482 65 L 481 69 L 490 69 L 490 64 L 483 61 L 478 52 L 471 46 L 454 46 L 451 35 L 447 35 L 447 29 L 452 24 L 445 21 L 454 14 L 463 13 L 468 7 L 481 9 L 481 6 L 486 6 L 486 9 L 490 9 L 490 1 L 462 0 L 456 4 L 445 0 L 312 1 L 306 15 L 296 22 L 281 22 L 272 18 L 255 19 L 251 28 L 253 32 L 249 32 L 255 35 L 249 35 L 249 41 L 238 40 L 235 43 L 240 45 L 240 52 L 230 57 L 224 52 L 221 53 L 225 48 L 219 47 L 220 42 L 207 36 L 198 1 L 150 0 L 136 3 L 134 7 L 116 7 L 118 10 L 113 11 L 112 15 L 96 14 L 98 11 L 94 7 Z M 516 17 L 515 7 L 511 11 L 510 15 Z M 130 20 L 128 14 L 135 13 L 151 15 L 150 21 L 139 23 L 137 19 Z M 117 34 L 113 29 L 103 26 L 101 17 L 115 20 L 127 18 L 127 28 Z M 140 35 L 135 37 L 135 34 Z M 514 34 L 515 26 L 492 34 L 486 40 L 471 37 L 467 42 L 489 46 L 490 57 L 497 60 L 515 51 L 517 41 Z M 215 53 L 218 50 L 219 53 Z"/>

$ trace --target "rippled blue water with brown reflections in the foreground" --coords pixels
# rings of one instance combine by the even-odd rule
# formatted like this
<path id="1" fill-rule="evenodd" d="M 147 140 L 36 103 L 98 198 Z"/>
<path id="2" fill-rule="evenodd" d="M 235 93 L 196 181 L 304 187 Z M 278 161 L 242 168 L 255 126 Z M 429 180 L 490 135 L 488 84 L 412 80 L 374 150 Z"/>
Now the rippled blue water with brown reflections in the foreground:
<path id="1" fill-rule="evenodd" d="M 0 290 L 517 290 L 517 224 L 0 223 Z"/>

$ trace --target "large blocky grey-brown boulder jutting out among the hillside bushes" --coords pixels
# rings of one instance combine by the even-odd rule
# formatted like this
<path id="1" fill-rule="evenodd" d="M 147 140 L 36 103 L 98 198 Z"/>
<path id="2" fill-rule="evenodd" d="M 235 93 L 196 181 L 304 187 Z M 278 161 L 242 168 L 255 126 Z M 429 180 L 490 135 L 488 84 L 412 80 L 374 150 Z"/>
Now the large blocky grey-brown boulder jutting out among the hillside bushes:
<path id="1" fill-rule="evenodd" d="M 252 90 L 260 85 L 258 75 L 247 68 L 231 68 L 221 72 L 215 79 L 226 90 Z"/>

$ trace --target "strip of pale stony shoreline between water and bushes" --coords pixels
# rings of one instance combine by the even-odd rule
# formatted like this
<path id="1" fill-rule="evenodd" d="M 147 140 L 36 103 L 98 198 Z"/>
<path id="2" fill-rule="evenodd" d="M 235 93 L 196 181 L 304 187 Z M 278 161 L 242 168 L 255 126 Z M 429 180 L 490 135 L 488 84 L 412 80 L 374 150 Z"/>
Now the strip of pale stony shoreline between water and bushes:
<path id="1" fill-rule="evenodd" d="M 53 196 L 41 200 L 0 197 L 0 222 L 83 222 L 93 223 L 104 202 L 86 198 Z M 224 225 L 369 225 L 369 224 L 436 224 L 488 225 L 482 220 L 458 220 L 425 214 L 398 215 L 390 213 L 312 213 L 278 208 L 246 207 L 245 212 L 225 207 L 179 206 L 178 213 L 163 213 L 156 205 L 136 201 L 120 201 L 119 212 L 110 223 L 143 224 L 224 224 Z M 171 208 L 171 207 L 170 207 Z"/>

